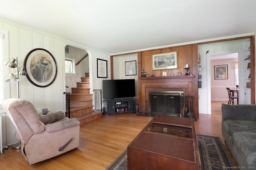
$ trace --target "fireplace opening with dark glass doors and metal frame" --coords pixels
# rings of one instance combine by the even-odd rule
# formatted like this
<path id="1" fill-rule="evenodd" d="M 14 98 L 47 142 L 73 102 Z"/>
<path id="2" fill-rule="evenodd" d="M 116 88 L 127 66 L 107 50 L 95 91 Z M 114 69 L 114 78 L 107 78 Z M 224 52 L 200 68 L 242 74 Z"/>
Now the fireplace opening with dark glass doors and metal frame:
<path id="1" fill-rule="evenodd" d="M 150 92 L 150 113 L 153 115 L 184 115 L 184 92 Z"/>

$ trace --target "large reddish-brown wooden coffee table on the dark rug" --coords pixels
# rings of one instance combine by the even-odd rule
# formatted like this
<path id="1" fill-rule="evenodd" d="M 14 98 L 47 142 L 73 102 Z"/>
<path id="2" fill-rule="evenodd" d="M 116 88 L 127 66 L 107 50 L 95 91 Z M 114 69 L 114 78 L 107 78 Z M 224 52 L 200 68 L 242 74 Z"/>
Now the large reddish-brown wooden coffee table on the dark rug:
<path id="1" fill-rule="evenodd" d="M 200 170 L 193 118 L 156 115 L 127 147 L 128 170 Z"/>

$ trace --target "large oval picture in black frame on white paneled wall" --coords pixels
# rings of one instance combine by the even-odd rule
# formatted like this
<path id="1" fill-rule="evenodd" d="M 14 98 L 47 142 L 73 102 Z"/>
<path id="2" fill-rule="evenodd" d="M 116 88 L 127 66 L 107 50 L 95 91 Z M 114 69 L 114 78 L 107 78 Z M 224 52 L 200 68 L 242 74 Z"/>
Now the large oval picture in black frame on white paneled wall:
<path id="1" fill-rule="evenodd" d="M 34 86 L 50 86 L 57 76 L 56 61 L 46 49 L 32 49 L 25 57 L 24 66 L 26 77 Z"/>

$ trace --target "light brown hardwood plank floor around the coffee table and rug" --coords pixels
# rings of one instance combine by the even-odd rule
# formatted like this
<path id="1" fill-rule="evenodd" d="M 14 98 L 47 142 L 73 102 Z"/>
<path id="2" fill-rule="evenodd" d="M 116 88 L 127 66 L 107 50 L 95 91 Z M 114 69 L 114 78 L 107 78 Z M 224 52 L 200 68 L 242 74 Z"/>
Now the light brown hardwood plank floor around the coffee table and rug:
<path id="1" fill-rule="evenodd" d="M 230 154 L 221 133 L 221 103 L 223 102 L 212 102 L 212 115 L 199 115 L 200 118 L 195 122 L 196 133 L 219 136 Z M 81 126 L 80 147 L 77 149 L 28 165 L 20 149 L 12 150 L 12 147 L 9 147 L 6 152 L 0 154 L 0 169 L 104 170 L 126 149 L 151 119 L 152 117 L 134 113 L 104 115 L 101 119 Z"/>

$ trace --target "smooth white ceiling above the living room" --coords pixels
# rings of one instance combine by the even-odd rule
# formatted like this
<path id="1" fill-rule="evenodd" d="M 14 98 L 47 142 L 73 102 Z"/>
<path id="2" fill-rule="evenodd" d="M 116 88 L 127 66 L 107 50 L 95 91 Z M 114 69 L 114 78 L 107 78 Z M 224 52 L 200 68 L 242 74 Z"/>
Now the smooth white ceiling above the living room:
<path id="1" fill-rule="evenodd" d="M 255 0 L 0 0 L 0 18 L 108 54 L 255 33 Z"/>

